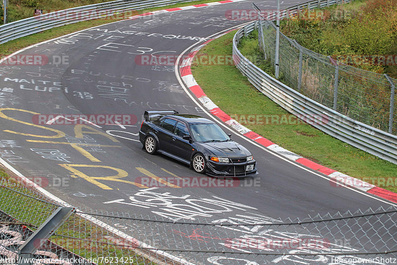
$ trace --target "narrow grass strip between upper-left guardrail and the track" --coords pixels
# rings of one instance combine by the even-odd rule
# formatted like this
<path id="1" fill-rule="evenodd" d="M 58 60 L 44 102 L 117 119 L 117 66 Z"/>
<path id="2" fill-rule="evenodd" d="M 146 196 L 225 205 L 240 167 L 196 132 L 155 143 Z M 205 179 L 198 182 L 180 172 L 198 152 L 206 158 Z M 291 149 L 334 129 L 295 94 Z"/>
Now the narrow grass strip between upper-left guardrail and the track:
<path id="1" fill-rule="evenodd" d="M 190 1 L 190 2 L 184 2 L 184 3 L 177 3 L 177 4 L 171 4 L 167 6 L 160 6 L 160 7 L 152 7 L 152 8 L 145 8 L 141 10 L 137 10 L 136 13 L 134 14 L 143 14 L 147 13 L 150 11 L 155 11 L 155 10 L 161 10 L 165 8 L 174 8 L 174 7 L 181 7 L 181 6 L 186 6 L 186 5 L 193 5 L 193 4 L 200 4 L 200 3 L 209 3 L 213 2 L 214 0 L 199 0 L 199 1 Z M 131 15 L 131 13 L 128 13 Z M 12 40 L 6 43 L 3 43 L 0 45 L 0 55 L 1 56 L 7 56 L 10 55 L 22 48 L 28 47 L 30 45 L 50 40 L 53 38 L 61 37 L 66 34 L 76 32 L 79 30 L 115 22 L 115 21 L 121 21 L 123 20 L 124 13 L 120 13 L 117 17 L 106 17 L 106 18 L 99 18 L 99 19 L 94 19 L 94 20 L 88 20 L 88 21 L 81 21 L 77 22 L 74 24 L 69 24 L 61 27 L 56 27 L 52 29 L 48 29 L 46 31 L 42 31 L 39 33 L 35 33 L 26 37 L 22 37 L 16 40 Z"/>

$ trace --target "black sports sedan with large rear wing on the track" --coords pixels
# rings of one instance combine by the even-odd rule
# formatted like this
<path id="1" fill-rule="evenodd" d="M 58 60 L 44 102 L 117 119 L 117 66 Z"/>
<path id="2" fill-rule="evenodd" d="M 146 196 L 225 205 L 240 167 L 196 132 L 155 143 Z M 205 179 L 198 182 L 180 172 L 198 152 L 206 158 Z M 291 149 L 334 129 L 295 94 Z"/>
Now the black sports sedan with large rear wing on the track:
<path id="1" fill-rule="evenodd" d="M 214 122 L 176 111 L 145 111 L 139 140 L 149 154 L 159 152 L 210 176 L 256 174 L 250 151 Z"/>

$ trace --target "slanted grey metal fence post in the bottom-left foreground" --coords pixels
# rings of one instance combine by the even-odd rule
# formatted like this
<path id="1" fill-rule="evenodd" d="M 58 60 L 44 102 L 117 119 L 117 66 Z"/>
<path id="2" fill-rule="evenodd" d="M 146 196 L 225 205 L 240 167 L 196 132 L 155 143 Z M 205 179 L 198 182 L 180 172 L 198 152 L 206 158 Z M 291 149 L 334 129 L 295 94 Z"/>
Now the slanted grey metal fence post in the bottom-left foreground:
<path id="1" fill-rule="evenodd" d="M 32 265 L 33 254 L 75 211 L 74 207 L 58 207 L 50 217 L 19 247 L 18 265 Z"/>

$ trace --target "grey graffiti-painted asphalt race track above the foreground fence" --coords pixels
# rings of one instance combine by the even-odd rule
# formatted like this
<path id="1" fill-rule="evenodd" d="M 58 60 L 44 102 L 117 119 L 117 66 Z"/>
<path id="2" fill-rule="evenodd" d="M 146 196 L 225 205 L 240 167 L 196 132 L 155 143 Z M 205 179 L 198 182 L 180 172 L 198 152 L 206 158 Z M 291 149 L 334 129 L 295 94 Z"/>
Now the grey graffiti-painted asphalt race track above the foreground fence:
<path id="1" fill-rule="evenodd" d="M 270 1 L 255 2 L 263 9 L 275 6 Z M 282 6 L 294 4 L 283 2 Z M 157 198 L 152 203 L 146 200 L 150 199 L 147 193 L 145 197 L 139 192 L 146 190 L 139 184 L 141 177 L 212 178 L 142 150 L 137 135 L 144 110 L 174 109 L 207 116 L 184 91 L 173 65 L 145 66 L 137 58 L 177 57 L 198 41 L 247 22 L 225 18 L 230 9 L 252 9 L 251 1 L 124 20 L 22 51 L 19 55 L 40 54 L 52 64 L 0 67 L 0 157 L 36 183 L 43 180 L 42 187 L 70 204 L 159 219 L 197 222 L 248 213 L 295 219 L 394 205 L 356 189 L 335 187 L 325 176 L 281 159 L 235 132 L 232 138 L 253 153 L 259 174 L 240 179 L 236 187 L 175 188 L 170 184 L 152 188 Z M 43 126 L 37 120 L 39 114 L 131 115 L 136 120 L 133 126 Z M 184 209 L 199 204 L 207 211 L 179 208 L 178 216 L 167 211 L 170 204 L 158 203 L 160 194 L 183 204 Z M 187 199 L 195 199 L 196 204 Z M 210 204 L 209 199 L 228 210 Z"/>

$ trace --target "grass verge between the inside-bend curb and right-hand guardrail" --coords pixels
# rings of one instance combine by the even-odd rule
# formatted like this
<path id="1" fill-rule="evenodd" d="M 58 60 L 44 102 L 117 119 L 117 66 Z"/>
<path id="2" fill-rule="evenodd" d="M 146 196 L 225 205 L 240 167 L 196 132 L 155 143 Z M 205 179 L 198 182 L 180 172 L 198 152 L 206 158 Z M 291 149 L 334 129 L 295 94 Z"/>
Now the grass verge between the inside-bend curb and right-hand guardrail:
<path id="1" fill-rule="evenodd" d="M 234 34 L 235 31 L 230 32 L 208 43 L 197 56 L 231 56 Z M 261 50 L 255 35 L 242 40 L 240 51 L 248 58 L 257 58 Z M 257 63 L 266 67 L 266 62 Z M 205 94 L 230 116 L 288 115 L 287 111 L 251 85 L 234 65 L 194 64 L 192 73 Z M 246 127 L 314 162 L 397 192 L 397 165 L 361 151 L 308 124 Z"/>

